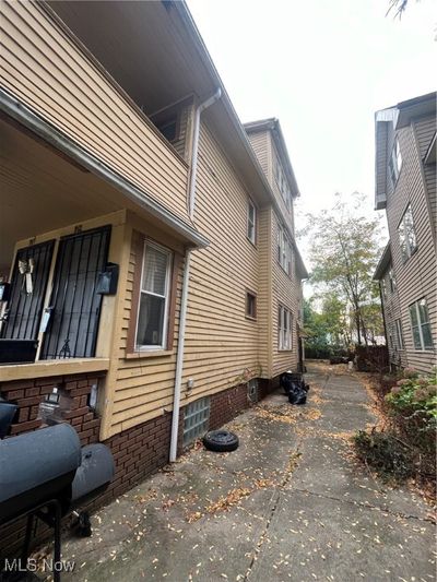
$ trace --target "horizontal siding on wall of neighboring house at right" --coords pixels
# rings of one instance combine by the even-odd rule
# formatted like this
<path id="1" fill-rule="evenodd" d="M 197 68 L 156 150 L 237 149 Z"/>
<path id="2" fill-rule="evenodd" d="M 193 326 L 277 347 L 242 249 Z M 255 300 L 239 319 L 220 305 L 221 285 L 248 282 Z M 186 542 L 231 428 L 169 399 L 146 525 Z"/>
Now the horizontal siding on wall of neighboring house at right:
<path id="1" fill-rule="evenodd" d="M 391 135 L 391 141 L 392 138 Z M 392 261 L 399 289 L 409 366 L 420 371 L 427 371 L 435 364 L 437 346 L 436 254 L 421 171 L 421 155 L 412 127 L 398 131 L 398 138 L 402 153 L 402 168 L 395 189 L 390 192 L 387 203 Z M 409 203 L 413 213 L 417 250 L 404 263 L 399 244 L 398 225 Z M 409 306 L 422 297 L 426 298 L 428 305 L 434 351 L 420 352 L 414 348 L 413 344 Z"/>

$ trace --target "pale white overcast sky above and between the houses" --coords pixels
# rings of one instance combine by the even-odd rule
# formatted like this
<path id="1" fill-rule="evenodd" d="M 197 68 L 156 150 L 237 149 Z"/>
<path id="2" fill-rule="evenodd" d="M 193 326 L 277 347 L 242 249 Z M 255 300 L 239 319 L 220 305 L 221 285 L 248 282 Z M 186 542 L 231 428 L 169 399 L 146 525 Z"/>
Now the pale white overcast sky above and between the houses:
<path id="1" fill-rule="evenodd" d="M 436 88 L 435 0 L 388 4 L 188 0 L 240 120 L 280 119 L 299 214 L 355 190 L 373 212 L 374 112 Z"/>

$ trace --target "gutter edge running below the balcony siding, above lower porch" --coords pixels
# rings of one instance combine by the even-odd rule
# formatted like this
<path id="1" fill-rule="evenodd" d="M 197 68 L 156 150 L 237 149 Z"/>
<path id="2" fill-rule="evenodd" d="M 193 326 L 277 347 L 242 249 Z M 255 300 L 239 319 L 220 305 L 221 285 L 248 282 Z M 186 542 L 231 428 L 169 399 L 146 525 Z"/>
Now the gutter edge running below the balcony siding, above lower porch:
<path id="1" fill-rule="evenodd" d="M 36 135 L 69 156 L 79 165 L 99 178 L 103 178 L 138 206 L 147 211 L 173 230 L 181 235 L 192 247 L 206 247 L 209 245 L 209 240 L 198 233 L 196 228 L 156 202 L 151 194 L 135 187 L 105 163 L 101 162 L 97 157 L 66 135 L 52 123 L 43 119 L 43 117 L 37 115 L 3 87 L 0 88 L 0 110 L 33 131 Z"/>

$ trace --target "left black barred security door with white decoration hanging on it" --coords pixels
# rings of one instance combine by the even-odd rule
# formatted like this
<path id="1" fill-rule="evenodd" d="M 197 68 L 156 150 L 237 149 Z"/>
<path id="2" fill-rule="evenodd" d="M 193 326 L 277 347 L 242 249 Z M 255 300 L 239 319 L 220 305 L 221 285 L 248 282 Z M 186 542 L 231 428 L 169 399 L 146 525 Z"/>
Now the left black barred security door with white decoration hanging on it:
<path id="1" fill-rule="evenodd" d="M 54 246 L 49 240 L 17 251 L 0 337 L 37 338 Z"/>

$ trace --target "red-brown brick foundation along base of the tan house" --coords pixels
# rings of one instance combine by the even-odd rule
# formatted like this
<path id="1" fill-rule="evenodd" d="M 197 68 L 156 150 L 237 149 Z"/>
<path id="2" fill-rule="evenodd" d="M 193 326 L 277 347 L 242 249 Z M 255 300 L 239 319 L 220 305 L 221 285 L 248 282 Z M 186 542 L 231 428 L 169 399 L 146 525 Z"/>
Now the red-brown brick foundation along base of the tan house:
<path id="1" fill-rule="evenodd" d="M 2 396 L 16 402 L 20 406 L 17 421 L 12 426 L 12 435 L 39 428 L 40 421 L 36 420 L 38 404 L 47 393 L 51 392 L 54 385 L 59 385 L 61 381 L 74 402 L 73 409 L 67 419 L 78 430 L 82 446 L 98 441 L 99 419 L 95 418 L 95 413 L 86 405 L 91 387 L 98 381 L 95 375 L 56 377 L 0 384 Z M 271 382 L 267 380 L 261 380 L 259 385 L 261 397 L 271 391 Z M 246 384 L 213 394 L 211 396 L 209 428 L 220 428 L 250 404 Z M 181 452 L 182 427 L 184 408 L 180 411 L 178 454 Z M 114 455 L 115 477 L 108 489 L 90 503 L 86 509 L 93 510 L 110 502 L 164 466 L 168 462 L 170 431 L 172 414 L 166 413 L 104 441 Z M 13 549 L 19 547 L 24 535 L 23 527 L 24 522 L 22 520 L 8 527 L 0 527 L 0 557 L 5 555 L 10 557 Z M 43 542 L 44 536 L 47 537 L 47 528 L 43 527 L 37 542 Z"/>

